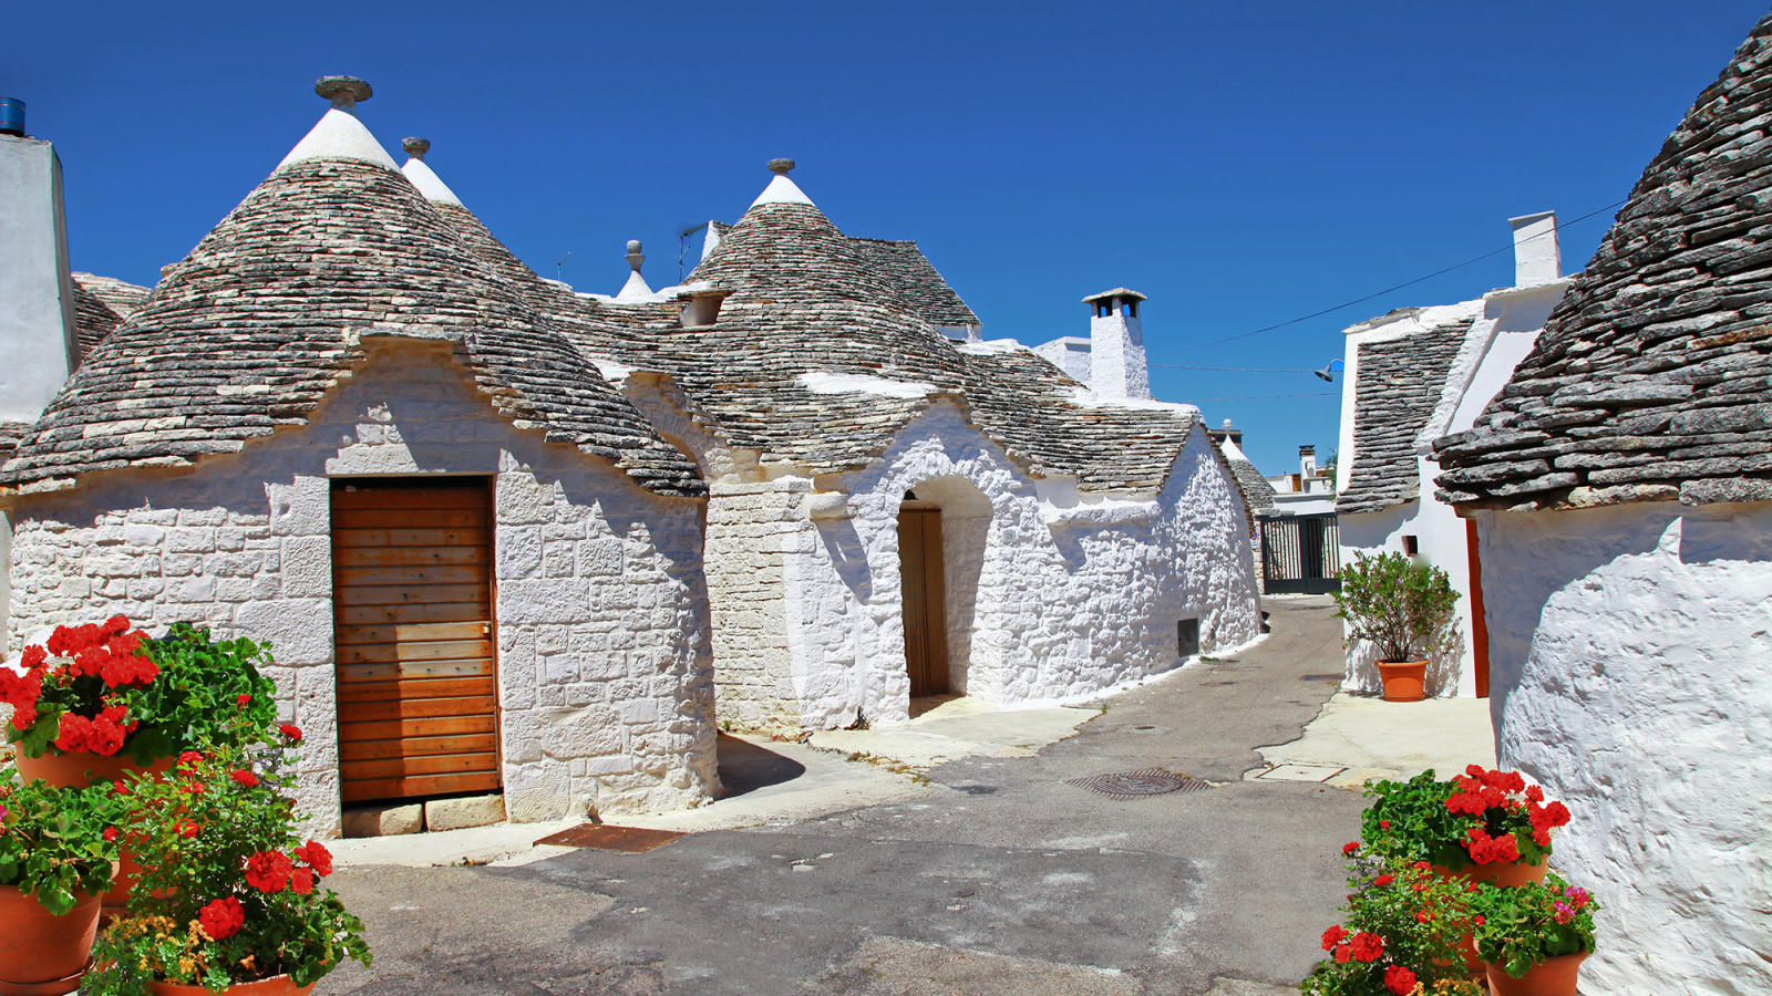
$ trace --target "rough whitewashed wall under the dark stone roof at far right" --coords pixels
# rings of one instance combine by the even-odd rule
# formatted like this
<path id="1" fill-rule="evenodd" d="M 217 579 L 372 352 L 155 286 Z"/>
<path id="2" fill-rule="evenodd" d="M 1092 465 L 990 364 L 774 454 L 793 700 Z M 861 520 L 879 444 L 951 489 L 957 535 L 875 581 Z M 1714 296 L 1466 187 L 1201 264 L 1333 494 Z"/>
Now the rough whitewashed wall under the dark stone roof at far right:
<path id="1" fill-rule="evenodd" d="M 1501 764 L 1568 803 L 1552 863 L 1605 904 L 1584 991 L 1772 992 L 1772 505 L 1480 528 Z"/>

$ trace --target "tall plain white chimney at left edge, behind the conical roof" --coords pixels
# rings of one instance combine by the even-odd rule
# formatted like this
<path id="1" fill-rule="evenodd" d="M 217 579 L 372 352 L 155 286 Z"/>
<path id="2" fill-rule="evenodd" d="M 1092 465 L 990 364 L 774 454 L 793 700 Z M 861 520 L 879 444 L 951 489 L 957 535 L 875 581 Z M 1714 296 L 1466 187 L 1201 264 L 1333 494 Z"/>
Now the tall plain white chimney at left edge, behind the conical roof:
<path id="1" fill-rule="evenodd" d="M 55 147 L 0 133 L 0 422 L 35 422 L 80 358 Z"/>

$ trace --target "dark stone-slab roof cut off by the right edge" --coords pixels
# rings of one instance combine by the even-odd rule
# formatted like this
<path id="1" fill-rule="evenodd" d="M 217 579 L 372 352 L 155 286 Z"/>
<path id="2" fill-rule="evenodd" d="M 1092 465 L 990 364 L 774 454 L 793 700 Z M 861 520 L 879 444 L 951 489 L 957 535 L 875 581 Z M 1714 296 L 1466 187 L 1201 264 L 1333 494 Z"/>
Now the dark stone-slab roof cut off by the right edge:
<path id="1" fill-rule="evenodd" d="M 1650 161 L 1476 425 L 1446 502 L 1772 498 L 1772 14 Z"/>

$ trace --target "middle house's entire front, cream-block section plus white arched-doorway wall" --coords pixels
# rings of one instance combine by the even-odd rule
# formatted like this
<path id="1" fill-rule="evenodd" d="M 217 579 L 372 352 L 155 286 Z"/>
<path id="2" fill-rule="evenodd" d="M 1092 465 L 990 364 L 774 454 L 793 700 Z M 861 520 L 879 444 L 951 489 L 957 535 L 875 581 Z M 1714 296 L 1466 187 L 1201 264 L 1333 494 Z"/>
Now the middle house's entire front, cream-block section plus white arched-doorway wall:
<path id="1" fill-rule="evenodd" d="M 911 491 L 943 512 L 953 693 L 1076 702 L 1182 665 L 1180 619 L 1200 620 L 1201 652 L 1260 634 L 1242 500 L 1198 425 L 1164 489 L 1136 500 L 1033 479 L 946 401 L 840 479 L 776 466 L 711 482 L 719 716 L 741 727 L 909 718 L 898 512 Z"/>

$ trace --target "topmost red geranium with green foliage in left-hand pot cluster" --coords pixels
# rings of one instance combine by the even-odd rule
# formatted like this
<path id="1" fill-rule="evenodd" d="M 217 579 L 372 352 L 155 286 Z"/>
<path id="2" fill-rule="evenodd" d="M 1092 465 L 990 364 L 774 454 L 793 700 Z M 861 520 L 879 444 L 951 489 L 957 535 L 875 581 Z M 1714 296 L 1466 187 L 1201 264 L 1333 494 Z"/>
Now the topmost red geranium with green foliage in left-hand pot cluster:
<path id="1" fill-rule="evenodd" d="M 112 782 L 216 741 L 220 725 L 268 739 L 276 721 L 269 663 L 252 640 L 213 642 L 184 622 L 149 640 L 115 615 L 62 626 L 25 647 L 21 672 L 0 668 L 0 702 L 12 707 L 7 741 L 27 778 L 58 785 Z M 245 712 L 234 702 L 246 695 Z M 241 720 L 248 720 L 243 727 Z"/>

